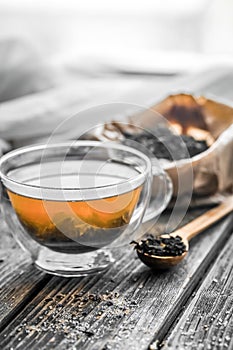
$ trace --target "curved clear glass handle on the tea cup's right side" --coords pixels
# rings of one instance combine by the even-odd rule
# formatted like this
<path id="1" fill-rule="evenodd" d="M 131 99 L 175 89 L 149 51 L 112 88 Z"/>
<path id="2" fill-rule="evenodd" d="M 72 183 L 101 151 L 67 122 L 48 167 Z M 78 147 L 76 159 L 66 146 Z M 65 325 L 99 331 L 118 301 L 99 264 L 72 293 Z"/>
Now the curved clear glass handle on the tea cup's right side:
<path id="1" fill-rule="evenodd" d="M 148 222 L 160 215 L 167 208 L 172 194 L 173 184 L 170 176 L 152 164 L 151 198 L 142 222 Z"/>

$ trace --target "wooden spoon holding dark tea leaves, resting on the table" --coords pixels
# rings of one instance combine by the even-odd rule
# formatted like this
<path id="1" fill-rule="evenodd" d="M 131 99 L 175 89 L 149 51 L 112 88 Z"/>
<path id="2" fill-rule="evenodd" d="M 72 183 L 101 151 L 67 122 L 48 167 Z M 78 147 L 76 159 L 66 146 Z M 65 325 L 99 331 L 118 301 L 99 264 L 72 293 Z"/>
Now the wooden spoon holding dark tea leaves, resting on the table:
<path id="1" fill-rule="evenodd" d="M 148 253 L 143 253 L 137 248 L 138 257 L 144 264 L 152 269 L 168 269 L 179 264 L 187 255 L 189 250 L 189 241 L 201 233 L 203 230 L 210 227 L 212 224 L 223 218 L 225 215 L 233 211 L 233 196 L 227 198 L 223 203 L 217 207 L 207 211 L 203 215 L 189 222 L 187 225 L 172 232 L 170 235 L 162 235 L 161 237 L 168 238 L 170 236 L 180 236 L 186 246 L 186 251 L 179 256 L 156 256 Z"/>

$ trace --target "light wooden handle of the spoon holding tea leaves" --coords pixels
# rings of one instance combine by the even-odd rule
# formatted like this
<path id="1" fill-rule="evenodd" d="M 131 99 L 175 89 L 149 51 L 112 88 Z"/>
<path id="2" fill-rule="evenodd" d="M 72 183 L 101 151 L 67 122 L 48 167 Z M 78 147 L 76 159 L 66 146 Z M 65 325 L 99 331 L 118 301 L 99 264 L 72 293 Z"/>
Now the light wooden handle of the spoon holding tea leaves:
<path id="1" fill-rule="evenodd" d="M 206 213 L 189 222 L 187 225 L 176 230 L 172 233 L 172 235 L 179 235 L 189 241 L 198 235 L 198 233 L 207 229 L 225 215 L 229 214 L 231 211 L 233 211 L 233 196 L 227 198 L 217 207 L 208 210 Z"/>

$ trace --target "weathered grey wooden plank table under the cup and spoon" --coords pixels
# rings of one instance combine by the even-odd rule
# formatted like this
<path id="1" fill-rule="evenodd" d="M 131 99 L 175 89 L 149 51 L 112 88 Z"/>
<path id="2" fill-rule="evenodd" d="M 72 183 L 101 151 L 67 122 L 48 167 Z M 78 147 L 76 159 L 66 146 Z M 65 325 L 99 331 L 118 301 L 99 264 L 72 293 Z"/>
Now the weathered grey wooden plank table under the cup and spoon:
<path id="1" fill-rule="evenodd" d="M 200 91 L 221 96 L 219 86 L 206 83 Z M 54 277 L 31 264 L 3 220 L 0 231 L 0 349 L 233 349 L 232 215 L 162 273 L 129 246 L 102 275 Z"/>

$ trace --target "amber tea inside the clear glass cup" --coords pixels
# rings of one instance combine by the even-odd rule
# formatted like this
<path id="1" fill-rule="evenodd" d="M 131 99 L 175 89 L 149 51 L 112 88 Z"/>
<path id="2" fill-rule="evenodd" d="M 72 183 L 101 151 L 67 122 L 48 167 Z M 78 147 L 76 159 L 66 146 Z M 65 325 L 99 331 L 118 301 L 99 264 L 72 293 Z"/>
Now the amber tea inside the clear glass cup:
<path id="1" fill-rule="evenodd" d="M 112 243 L 125 230 L 139 201 L 142 184 L 133 189 L 129 186 L 128 191 L 118 195 L 111 195 L 110 190 L 109 195 L 87 200 L 66 200 L 56 196 L 56 192 L 61 192 L 61 184 L 71 194 L 72 188 L 77 186 L 87 193 L 93 181 L 98 189 L 120 184 L 138 174 L 135 169 L 120 163 L 102 166 L 98 161 L 90 161 L 87 167 L 82 167 L 81 161 L 69 160 L 63 164 L 62 177 L 59 175 L 60 163 L 57 162 L 44 164 L 42 172 L 39 164 L 33 164 L 16 169 L 11 174 L 28 185 L 42 184 L 53 189 L 57 198 L 49 198 L 46 193 L 43 195 L 43 191 L 41 198 L 22 191 L 15 193 L 11 189 L 7 193 L 28 235 L 54 251 L 85 253 Z"/>

